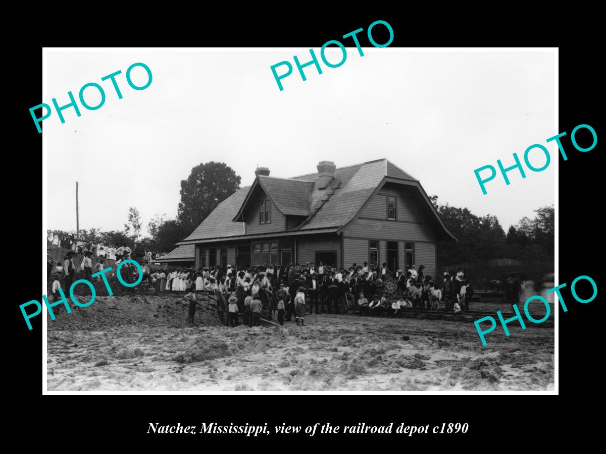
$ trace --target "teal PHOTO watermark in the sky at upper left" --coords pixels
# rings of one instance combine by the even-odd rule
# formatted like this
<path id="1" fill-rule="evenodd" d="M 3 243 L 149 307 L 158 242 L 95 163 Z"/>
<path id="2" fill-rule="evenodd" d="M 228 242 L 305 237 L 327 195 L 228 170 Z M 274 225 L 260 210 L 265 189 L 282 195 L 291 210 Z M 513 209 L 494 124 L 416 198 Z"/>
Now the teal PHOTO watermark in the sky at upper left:
<path id="1" fill-rule="evenodd" d="M 139 85 L 133 84 L 133 80 L 130 76 L 130 73 L 133 70 L 133 68 L 136 68 L 136 67 L 141 67 L 145 70 L 145 72 L 147 72 L 147 82 L 144 85 L 139 86 Z M 101 81 L 102 82 L 107 81 L 107 80 L 112 81 L 112 85 L 113 85 L 114 90 L 116 90 L 116 95 L 118 96 L 118 99 L 122 99 L 122 97 L 123 97 L 122 91 L 120 91 L 120 87 L 118 87 L 118 82 L 116 81 L 116 76 L 119 76 L 119 74 L 122 74 L 122 71 L 116 71 L 115 73 L 107 74 L 107 76 L 101 77 Z M 152 79 L 151 70 L 144 63 L 133 63 L 126 70 L 126 82 L 128 83 L 128 85 L 130 85 L 130 88 L 132 88 L 133 90 L 145 90 L 145 88 L 147 88 L 151 85 L 151 79 Z M 99 91 L 99 94 L 101 95 L 101 100 L 99 101 L 99 104 L 89 105 L 84 100 L 84 90 L 86 90 L 89 87 L 90 87 L 90 90 L 88 90 L 87 93 L 90 93 L 93 90 Z M 64 111 L 65 109 L 67 109 L 69 107 L 74 108 L 74 111 L 76 112 L 76 116 L 78 116 L 78 117 L 82 116 L 82 114 L 80 112 L 80 108 L 78 107 L 78 103 L 76 102 L 76 99 L 75 99 L 72 91 L 67 92 L 67 97 L 69 98 L 70 102 L 68 102 L 68 104 L 62 105 L 61 107 L 59 107 L 59 103 L 57 102 L 57 99 L 55 97 L 53 97 L 53 99 L 52 99 L 53 106 L 55 107 L 55 111 L 59 117 L 59 120 L 61 120 L 61 123 L 65 123 L 65 118 L 63 116 L 62 111 Z M 78 98 L 80 100 L 80 104 L 82 104 L 82 107 L 84 107 L 86 110 L 97 110 L 97 109 L 103 107 L 103 105 L 105 104 L 105 91 L 103 90 L 103 87 L 101 87 L 101 85 L 97 84 L 96 82 L 88 82 L 88 84 L 84 84 L 84 85 L 82 85 L 82 88 L 80 88 L 80 91 L 78 93 Z M 90 100 L 90 97 L 89 97 L 89 100 Z M 34 111 L 39 108 L 42 108 L 43 114 L 41 117 L 38 118 L 38 117 L 36 117 L 36 114 L 34 113 Z M 46 113 L 44 113 L 44 110 L 46 110 Z M 53 110 L 50 107 L 50 105 L 48 105 L 44 102 L 42 104 L 38 104 L 37 106 L 30 108 L 30 114 L 32 115 L 34 123 L 36 124 L 36 128 L 38 128 L 38 133 L 42 133 L 42 128 L 40 127 L 40 123 L 42 122 L 42 120 L 46 120 L 48 117 L 51 116 L 52 113 L 53 113 Z"/>

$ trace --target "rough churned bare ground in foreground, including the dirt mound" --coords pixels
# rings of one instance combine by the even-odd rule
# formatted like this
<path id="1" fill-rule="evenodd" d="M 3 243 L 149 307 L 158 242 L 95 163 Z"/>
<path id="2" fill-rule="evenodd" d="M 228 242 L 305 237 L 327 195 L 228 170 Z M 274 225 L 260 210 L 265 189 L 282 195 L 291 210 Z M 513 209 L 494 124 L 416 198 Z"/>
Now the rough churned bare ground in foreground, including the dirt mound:
<path id="1" fill-rule="evenodd" d="M 211 304 L 187 327 L 174 298 L 134 299 L 49 319 L 48 390 L 553 390 L 553 328 L 512 324 L 483 347 L 473 323 L 310 315 L 230 328 Z"/>

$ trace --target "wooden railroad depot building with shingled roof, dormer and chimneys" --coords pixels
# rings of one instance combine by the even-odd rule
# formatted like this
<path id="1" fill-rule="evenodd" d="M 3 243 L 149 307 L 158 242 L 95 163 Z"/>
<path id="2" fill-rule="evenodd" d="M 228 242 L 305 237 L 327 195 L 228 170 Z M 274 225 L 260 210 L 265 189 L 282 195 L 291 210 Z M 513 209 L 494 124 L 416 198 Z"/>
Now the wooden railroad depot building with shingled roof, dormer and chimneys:
<path id="1" fill-rule="evenodd" d="M 385 262 L 391 271 L 425 265 L 425 275 L 435 276 L 436 242 L 457 239 L 418 180 L 387 159 L 317 168 L 291 178 L 256 169 L 251 186 L 221 202 L 168 255 L 191 257 L 193 246 L 196 269 Z"/>

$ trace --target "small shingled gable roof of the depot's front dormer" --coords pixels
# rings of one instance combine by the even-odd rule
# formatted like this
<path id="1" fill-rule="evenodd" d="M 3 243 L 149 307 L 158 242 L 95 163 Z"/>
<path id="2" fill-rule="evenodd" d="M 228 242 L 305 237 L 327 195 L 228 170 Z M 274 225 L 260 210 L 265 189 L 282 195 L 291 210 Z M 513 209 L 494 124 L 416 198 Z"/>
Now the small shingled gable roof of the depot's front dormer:
<path id="1" fill-rule="evenodd" d="M 295 216 L 308 216 L 310 214 L 309 200 L 313 182 L 259 175 L 248 191 L 238 214 L 233 218 L 234 222 L 244 220 L 244 210 L 257 186 L 261 186 L 282 214 Z"/>

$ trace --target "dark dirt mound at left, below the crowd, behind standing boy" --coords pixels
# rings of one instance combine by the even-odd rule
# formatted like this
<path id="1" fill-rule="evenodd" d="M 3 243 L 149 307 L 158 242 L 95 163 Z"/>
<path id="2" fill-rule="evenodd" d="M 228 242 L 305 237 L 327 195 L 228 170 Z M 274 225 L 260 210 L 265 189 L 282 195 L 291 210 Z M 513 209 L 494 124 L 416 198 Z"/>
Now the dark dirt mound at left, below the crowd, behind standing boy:
<path id="1" fill-rule="evenodd" d="M 87 303 L 90 296 L 76 298 Z M 187 326 L 188 304 L 183 298 L 155 295 L 128 295 L 96 297 L 85 308 L 75 304 L 70 306 L 72 314 L 67 314 L 64 306 L 55 306 L 56 320 L 47 315 L 48 330 L 77 331 L 88 329 L 102 331 L 117 326 Z M 215 301 L 202 296 L 196 308 L 195 323 L 202 326 L 218 326 Z"/>

